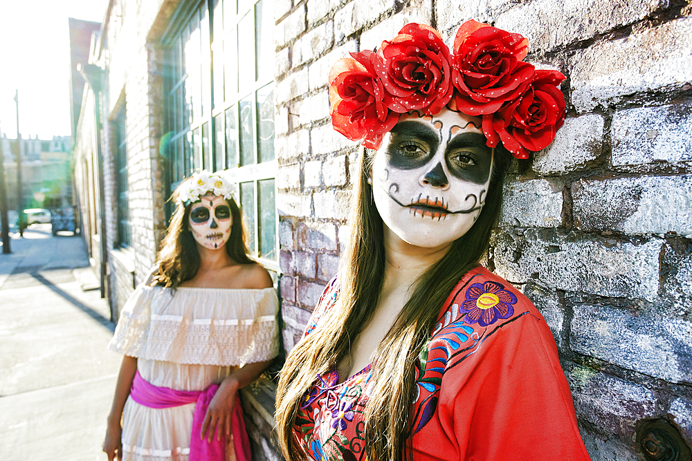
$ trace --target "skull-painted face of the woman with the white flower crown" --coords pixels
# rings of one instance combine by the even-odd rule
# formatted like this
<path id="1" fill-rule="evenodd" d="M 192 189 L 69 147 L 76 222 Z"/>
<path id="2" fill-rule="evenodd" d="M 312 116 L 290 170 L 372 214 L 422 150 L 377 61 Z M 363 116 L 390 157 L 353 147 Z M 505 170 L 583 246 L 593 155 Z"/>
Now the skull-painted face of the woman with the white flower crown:
<path id="1" fill-rule="evenodd" d="M 194 240 L 210 250 L 226 245 L 233 225 L 226 199 L 211 194 L 192 204 L 188 221 Z"/>

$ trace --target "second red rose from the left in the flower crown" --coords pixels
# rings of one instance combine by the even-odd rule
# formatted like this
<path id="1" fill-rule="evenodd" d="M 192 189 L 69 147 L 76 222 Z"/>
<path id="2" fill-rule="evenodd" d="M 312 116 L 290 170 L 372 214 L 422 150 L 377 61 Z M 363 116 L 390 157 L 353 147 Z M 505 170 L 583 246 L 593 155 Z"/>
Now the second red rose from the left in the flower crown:
<path id="1" fill-rule="evenodd" d="M 409 23 L 394 39 L 382 42 L 375 70 L 385 86 L 385 104 L 394 112 L 438 113 L 452 98 L 449 48 L 439 32 Z"/>

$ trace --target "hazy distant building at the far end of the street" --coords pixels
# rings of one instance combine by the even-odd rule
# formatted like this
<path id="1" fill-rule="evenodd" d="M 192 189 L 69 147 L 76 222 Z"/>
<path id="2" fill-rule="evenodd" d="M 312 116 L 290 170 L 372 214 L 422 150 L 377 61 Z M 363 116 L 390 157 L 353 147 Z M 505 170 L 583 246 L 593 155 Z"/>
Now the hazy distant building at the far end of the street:
<path id="1" fill-rule="evenodd" d="M 17 209 L 17 139 L 3 135 L 2 151 L 8 182 L 8 207 Z M 21 139 L 22 208 L 55 209 L 72 205 L 72 173 L 69 136 Z"/>

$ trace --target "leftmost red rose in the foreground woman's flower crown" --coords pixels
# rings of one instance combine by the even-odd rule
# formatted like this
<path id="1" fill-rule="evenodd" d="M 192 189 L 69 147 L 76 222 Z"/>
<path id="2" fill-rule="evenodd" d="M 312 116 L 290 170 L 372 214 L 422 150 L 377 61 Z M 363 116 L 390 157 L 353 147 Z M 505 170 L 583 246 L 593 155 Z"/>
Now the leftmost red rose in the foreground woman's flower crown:
<path id="1" fill-rule="evenodd" d="M 381 65 L 376 53 L 365 50 L 351 56 L 354 59 L 339 59 L 329 72 L 331 124 L 349 140 L 379 149 L 384 134 L 399 121 L 399 114 L 383 103 L 384 87 L 374 70 Z"/>

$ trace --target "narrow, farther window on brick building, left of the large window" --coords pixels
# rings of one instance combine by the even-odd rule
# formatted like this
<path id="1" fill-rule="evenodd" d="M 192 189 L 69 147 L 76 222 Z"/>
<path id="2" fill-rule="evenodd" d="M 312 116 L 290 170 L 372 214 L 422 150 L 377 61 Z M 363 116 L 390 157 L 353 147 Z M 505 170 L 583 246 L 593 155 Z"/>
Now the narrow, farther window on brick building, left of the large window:
<path id="1" fill-rule="evenodd" d="M 125 104 L 113 120 L 113 146 L 116 160 L 116 196 L 118 199 L 118 246 L 131 245 L 131 225 L 127 196 L 127 136 L 125 135 Z"/>

